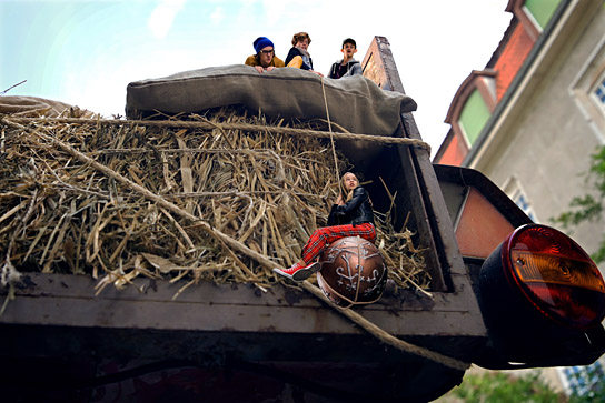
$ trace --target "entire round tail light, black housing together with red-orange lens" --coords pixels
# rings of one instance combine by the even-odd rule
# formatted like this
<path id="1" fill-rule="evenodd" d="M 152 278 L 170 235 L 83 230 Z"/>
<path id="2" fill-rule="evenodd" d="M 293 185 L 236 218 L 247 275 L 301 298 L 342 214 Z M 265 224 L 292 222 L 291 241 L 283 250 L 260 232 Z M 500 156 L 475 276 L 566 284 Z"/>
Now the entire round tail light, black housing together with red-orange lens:
<path id="1" fill-rule="evenodd" d="M 564 233 L 519 226 L 485 260 L 478 284 L 489 335 L 479 365 L 587 365 L 605 352 L 603 275 Z"/>

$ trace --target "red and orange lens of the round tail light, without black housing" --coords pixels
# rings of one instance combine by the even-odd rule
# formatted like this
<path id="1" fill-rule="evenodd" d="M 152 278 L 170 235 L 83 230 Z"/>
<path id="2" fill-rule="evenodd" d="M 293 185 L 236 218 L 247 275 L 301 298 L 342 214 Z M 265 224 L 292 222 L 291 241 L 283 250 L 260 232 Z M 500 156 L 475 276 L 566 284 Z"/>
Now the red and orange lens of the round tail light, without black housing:
<path id="1" fill-rule="evenodd" d="M 603 276 L 569 236 L 524 225 L 504 241 L 502 253 L 507 279 L 547 318 L 583 330 L 605 318 Z"/>

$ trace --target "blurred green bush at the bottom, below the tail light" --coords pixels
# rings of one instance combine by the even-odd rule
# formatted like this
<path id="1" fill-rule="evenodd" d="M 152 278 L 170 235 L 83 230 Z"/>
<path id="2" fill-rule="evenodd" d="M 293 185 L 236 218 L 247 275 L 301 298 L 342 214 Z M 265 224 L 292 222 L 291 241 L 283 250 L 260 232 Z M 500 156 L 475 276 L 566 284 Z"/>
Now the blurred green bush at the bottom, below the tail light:
<path id="1" fill-rule="evenodd" d="M 504 372 L 466 374 L 464 382 L 450 394 L 467 403 L 553 403 L 567 400 L 564 394 L 552 391 L 537 372 L 525 376 L 514 376 Z"/>

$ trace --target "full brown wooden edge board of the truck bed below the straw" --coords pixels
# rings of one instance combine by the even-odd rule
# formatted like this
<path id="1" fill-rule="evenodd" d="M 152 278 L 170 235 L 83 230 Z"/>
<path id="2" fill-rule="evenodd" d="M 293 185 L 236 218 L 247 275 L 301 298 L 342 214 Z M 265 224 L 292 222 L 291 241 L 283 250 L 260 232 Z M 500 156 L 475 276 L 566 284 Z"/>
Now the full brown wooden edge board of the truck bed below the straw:
<path id="1" fill-rule="evenodd" d="M 189 288 L 173 301 L 173 293 L 185 281 L 158 281 L 147 292 L 138 292 L 132 285 L 122 291 L 106 290 L 98 296 L 93 281 L 83 275 L 32 273 L 27 282 L 30 286 L 17 292 L 0 323 L 309 335 L 363 333 L 314 296 L 282 286 L 259 295 L 249 286 L 205 283 Z M 437 294 L 434 300 L 413 295 L 401 292 L 356 310 L 396 335 L 485 335 L 480 316 L 477 321 L 454 295 Z"/>

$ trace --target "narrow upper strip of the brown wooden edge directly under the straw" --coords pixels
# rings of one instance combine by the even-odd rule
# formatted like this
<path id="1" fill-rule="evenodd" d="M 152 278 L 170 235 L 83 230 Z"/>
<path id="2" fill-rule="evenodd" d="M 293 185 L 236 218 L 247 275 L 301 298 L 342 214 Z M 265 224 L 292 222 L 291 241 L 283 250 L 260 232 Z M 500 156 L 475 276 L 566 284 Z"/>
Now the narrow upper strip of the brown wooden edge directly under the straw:
<path id="1" fill-rule="evenodd" d="M 250 306 L 305 306 L 323 308 L 323 303 L 302 290 L 276 285 L 267 292 L 260 292 L 251 284 L 212 284 L 200 283 L 192 285 L 172 300 L 177 291 L 187 283 L 181 280 L 176 283 L 168 281 L 151 281 L 136 279 L 123 290 L 113 285 L 107 286 L 96 295 L 96 281 L 87 275 L 40 274 L 29 273 L 24 276 L 27 286 L 17 290 L 19 298 L 63 298 L 78 300 L 108 301 L 147 301 L 169 302 L 175 304 L 207 304 L 207 305 L 250 305 Z M 142 290 L 142 291 L 140 291 Z M 6 290 L 0 291 L 0 294 Z M 456 312 L 466 311 L 460 301 L 453 299 L 449 293 L 435 292 L 432 296 L 410 290 L 385 292 L 374 304 L 356 308 L 359 311 L 385 311 L 399 314 L 403 311 Z M 0 316 L 1 320 L 1 316 Z"/>

